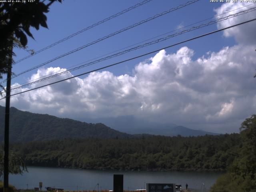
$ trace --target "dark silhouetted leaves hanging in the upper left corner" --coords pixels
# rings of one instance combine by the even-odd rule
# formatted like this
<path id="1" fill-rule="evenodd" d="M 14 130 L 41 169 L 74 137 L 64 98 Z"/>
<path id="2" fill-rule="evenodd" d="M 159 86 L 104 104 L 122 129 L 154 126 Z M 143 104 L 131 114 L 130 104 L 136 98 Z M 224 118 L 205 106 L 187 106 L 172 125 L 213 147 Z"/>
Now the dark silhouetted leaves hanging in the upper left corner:
<path id="1" fill-rule="evenodd" d="M 0 78 L 7 72 L 10 41 L 15 38 L 25 48 L 28 43 L 27 36 L 34 38 L 30 27 L 39 30 L 39 27 L 48 28 L 46 13 L 49 6 L 62 0 L 36 0 L 32 3 L 23 2 L 0 2 Z"/>

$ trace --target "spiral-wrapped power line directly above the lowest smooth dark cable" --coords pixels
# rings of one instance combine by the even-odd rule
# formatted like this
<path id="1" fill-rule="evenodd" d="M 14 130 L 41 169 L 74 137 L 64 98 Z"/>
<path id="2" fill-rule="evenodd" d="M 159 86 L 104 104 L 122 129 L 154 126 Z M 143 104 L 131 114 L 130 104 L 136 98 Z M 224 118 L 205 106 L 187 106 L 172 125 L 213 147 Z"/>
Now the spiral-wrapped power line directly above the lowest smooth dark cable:
<path id="1" fill-rule="evenodd" d="M 178 32 L 178 33 L 175 33 L 175 34 L 166 36 L 166 37 L 164 37 L 164 38 L 160 38 L 160 39 L 157 39 L 157 40 L 154 40 L 154 41 L 151 41 L 151 42 L 142 44 L 142 45 L 140 45 L 140 46 L 136 46 L 136 47 L 134 47 L 134 48 L 130 48 L 130 49 L 128 49 L 128 50 L 124 50 L 124 51 L 122 51 L 122 52 L 118 52 L 118 53 L 113 54 L 113 55 L 111 55 L 111 56 L 107 56 L 107 57 L 105 57 L 105 58 L 101 58 L 101 59 L 99 59 L 99 60 L 95 60 L 95 61 L 90 62 L 90 63 L 84 64 L 84 65 L 80 65 L 80 66 L 78 66 L 78 67 L 71 68 L 71 69 L 69 69 L 69 70 L 66 70 L 66 71 L 63 71 L 63 72 L 60 72 L 60 73 L 56 73 L 56 74 L 54 74 L 54 75 L 51 75 L 51 76 L 48 76 L 48 77 L 45 77 L 45 78 L 41 78 L 41 79 L 36 80 L 36 81 L 28 82 L 27 84 L 14 86 L 14 87 L 12 87 L 11 90 L 13 90 L 13 89 L 18 89 L 18 88 L 22 88 L 22 87 L 25 87 L 25 86 L 29 86 L 29 85 L 32 85 L 32 84 L 35 84 L 35 83 L 38 83 L 38 82 L 42 82 L 42 81 L 44 81 L 44 80 L 48 80 L 48 79 L 50 79 L 50 78 L 54 78 L 54 77 L 56 77 L 56 76 L 59 76 L 59 75 L 62 75 L 62 74 L 66 74 L 66 73 L 68 73 L 68 72 L 71 72 L 71 71 L 74 71 L 74 70 L 78 70 L 78 69 L 80 69 L 80 68 L 84 68 L 84 67 L 86 67 L 86 66 L 90 66 L 90 65 L 92 65 L 92 64 L 95 64 L 95 63 L 98 63 L 98 62 L 102 62 L 102 61 L 104 61 L 104 60 L 108 60 L 108 59 L 110 59 L 110 58 L 114 58 L 114 57 L 116 57 L 116 56 L 120 56 L 120 55 L 122 55 L 122 54 L 126 54 L 126 53 L 128 53 L 128 52 L 131 52 L 131 51 L 134 51 L 134 50 L 137 50 L 137 49 L 146 47 L 146 46 L 150 46 L 150 45 L 152 45 L 152 44 L 156 44 L 156 43 L 162 42 L 162 41 L 164 41 L 164 40 L 167 40 L 167 39 L 169 39 L 169 38 L 173 38 L 173 37 L 175 37 L 175 36 L 184 34 L 184 33 L 186 33 L 186 32 L 190 32 L 190 31 L 193 31 L 193 30 L 196 30 L 196 29 L 205 27 L 205 26 L 209 26 L 209 25 L 212 25 L 212 24 L 221 22 L 221 21 L 223 21 L 223 20 L 227 20 L 227 19 L 230 19 L 230 18 L 233 18 L 233 17 L 236 17 L 236 16 L 240 16 L 240 15 L 242 15 L 242 14 L 247 14 L 248 12 L 252 12 L 252 11 L 255 11 L 255 10 L 256 10 L 256 7 L 253 7 L 253 8 L 250 8 L 250 9 L 248 9 L 248 10 L 244 10 L 244 11 L 241 11 L 241 12 L 238 12 L 238 13 L 235 13 L 235 14 L 230 14 L 230 15 L 228 15 L 228 16 L 226 16 L 226 17 L 222 17 L 222 18 L 219 18 L 219 19 L 217 19 L 217 20 L 210 21 L 210 22 L 205 23 L 205 24 L 201 24 L 201 25 L 199 25 L 199 26 L 194 26 L 194 27 L 192 27 L 192 28 L 190 28 L 190 29 L 183 30 L 183 31 L 181 31 L 181 32 Z"/>

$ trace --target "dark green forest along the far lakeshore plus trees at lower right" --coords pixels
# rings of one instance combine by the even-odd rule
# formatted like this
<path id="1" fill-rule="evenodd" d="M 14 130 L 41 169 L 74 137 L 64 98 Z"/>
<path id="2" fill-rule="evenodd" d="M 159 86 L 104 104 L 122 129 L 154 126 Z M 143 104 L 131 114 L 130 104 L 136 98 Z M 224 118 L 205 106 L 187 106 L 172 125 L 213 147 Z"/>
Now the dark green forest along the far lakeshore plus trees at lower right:
<path id="1" fill-rule="evenodd" d="M 66 138 L 16 143 L 10 149 L 18 157 L 14 162 L 18 159 L 26 166 L 224 171 L 211 192 L 256 192 L 256 115 L 242 123 L 240 134 Z"/>

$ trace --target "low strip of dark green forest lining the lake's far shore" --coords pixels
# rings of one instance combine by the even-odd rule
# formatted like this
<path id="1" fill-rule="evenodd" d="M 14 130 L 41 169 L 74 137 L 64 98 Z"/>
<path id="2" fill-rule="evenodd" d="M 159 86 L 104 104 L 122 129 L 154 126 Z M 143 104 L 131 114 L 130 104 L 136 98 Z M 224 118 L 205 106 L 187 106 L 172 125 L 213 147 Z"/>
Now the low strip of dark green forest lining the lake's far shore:
<path id="1" fill-rule="evenodd" d="M 242 146 L 239 134 L 144 136 L 29 142 L 11 146 L 26 165 L 114 170 L 226 170 Z"/>

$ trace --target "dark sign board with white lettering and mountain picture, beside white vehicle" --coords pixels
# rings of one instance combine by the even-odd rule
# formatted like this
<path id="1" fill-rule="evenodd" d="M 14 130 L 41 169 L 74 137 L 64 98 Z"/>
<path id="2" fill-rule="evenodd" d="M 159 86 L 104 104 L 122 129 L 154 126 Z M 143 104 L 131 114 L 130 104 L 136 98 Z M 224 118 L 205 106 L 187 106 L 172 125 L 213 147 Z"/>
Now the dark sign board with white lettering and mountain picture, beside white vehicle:
<path id="1" fill-rule="evenodd" d="M 147 183 L 147 192 L 176 192 L 175 183 Z"/>

